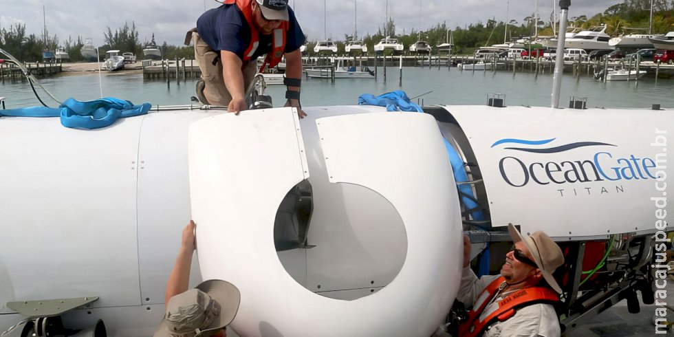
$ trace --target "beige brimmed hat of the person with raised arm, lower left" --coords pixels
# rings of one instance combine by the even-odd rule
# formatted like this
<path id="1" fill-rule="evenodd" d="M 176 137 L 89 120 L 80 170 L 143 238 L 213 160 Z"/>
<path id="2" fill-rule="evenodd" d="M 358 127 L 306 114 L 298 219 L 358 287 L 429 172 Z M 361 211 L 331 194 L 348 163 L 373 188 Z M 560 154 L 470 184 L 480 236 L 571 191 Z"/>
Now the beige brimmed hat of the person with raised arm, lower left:
<path id="1" fill-rule="evenodd" d="M 206 337 L 232 323 L 239 311 L 239 289 L 227 281 L 208 280 L 171 297 L 154 337 Z"/>

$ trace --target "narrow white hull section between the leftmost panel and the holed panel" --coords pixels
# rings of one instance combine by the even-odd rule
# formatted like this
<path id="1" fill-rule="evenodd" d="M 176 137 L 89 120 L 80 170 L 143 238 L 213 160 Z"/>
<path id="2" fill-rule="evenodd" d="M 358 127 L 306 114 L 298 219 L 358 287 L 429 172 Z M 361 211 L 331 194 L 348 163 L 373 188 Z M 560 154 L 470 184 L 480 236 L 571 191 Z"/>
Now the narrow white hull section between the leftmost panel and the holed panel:
<path id="1" fill-rule="evenodd" d="M 145 305 L 164 303 L 182 228 L 191 219 L 188 127 L 213 114 L 199 110 L 150 113 L 143 122 L 138 150 L 138 257 Z M 191 270 L 190 285 L 194 286 L 201 281 L 197 259 Z"/>

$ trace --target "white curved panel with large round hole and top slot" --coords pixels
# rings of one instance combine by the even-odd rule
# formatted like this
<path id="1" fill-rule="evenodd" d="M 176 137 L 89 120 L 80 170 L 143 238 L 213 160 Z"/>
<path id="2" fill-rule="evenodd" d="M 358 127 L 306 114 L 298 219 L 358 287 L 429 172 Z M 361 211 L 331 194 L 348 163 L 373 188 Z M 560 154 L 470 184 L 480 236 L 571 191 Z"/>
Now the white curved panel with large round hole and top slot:
<path id="1" fill-rule="evenodd" d="M 316 124 L 320 143 L 307 144 L 288 108 L 191 126 L 192 214 L 204 279 L 239 287 L 232 327 L 242 336 L 430 336 L 456 295 L 462 241 L 455 183 L 435 120 L 423 113 L 362 113 Z M 314 294 L 279 261 L 274 216 L 290 188 L 308 177 L 304 146 L 322 148 L 331 183 L 369 188 L 402 218 L 406 260 L 375 294 L 354 301 Z"/>

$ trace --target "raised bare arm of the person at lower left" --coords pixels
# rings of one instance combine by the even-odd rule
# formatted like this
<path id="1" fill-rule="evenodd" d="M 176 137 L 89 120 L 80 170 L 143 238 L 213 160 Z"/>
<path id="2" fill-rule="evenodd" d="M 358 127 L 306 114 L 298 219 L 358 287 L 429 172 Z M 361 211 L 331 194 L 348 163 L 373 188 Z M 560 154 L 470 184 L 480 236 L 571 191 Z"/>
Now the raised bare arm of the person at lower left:
<path id="1" fill-rule="evenodd" d="M 197 224 L 190 220 L 184 230 L 182 230 L 182 241 L 180 243 L 180 251 L 178 257 L 175 259 L 171 275 L 168 276 L 166 283 L 166 296 L 164 303 L 168 303 L 171 297 L 186 292 L 190 285 L 190 268 L 192 266 L 192 256 L 195 250 L 195 229 Z"/>

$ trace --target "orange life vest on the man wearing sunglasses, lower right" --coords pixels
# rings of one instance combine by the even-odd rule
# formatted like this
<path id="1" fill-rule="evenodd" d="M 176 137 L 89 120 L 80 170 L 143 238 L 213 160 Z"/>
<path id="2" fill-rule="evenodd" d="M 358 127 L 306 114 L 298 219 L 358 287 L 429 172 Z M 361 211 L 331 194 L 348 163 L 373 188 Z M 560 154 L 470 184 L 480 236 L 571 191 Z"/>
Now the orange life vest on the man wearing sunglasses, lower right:
<path id="1" fill-rule="evenodd" d="M 459 336 L 480 336 L 492 323 L 503 322 L 514 316 L 517 309 L 535 303 L 556 303 L 559 296 L 547 287 L 527 287 L 505 296 L 497 305 L 492 305 L 489 312 L 483 312 L 492 298 L 499 292 L 499 286 L 505 282 L 503 276 L 489 283 L 477 297 L 477 301 L 468 312 L 468 319 L 459 324 Z"/>

